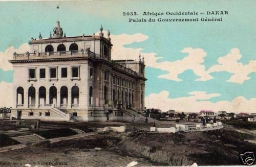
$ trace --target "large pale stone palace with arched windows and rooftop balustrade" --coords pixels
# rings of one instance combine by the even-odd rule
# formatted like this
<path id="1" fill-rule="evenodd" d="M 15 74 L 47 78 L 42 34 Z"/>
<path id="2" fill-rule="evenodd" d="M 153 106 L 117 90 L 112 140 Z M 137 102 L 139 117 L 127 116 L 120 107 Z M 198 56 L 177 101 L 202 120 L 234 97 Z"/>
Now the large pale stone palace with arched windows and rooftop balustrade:
<path id="1" fill-rule="evenodd" d="M 110 32 L 63 35 L 59 21 L 49 38 L 13 53 L 13 107 L 17 119 L 129 121 L 144 107 L 144 60 L 112 60 Z"/>

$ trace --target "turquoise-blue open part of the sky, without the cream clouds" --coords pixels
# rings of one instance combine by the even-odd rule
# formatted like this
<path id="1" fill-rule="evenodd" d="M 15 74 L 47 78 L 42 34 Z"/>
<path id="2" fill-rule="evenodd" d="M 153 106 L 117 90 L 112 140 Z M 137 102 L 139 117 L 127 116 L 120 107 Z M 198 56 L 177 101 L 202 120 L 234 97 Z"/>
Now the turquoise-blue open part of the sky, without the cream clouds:
<path id="1" fill-rule="evenodd" d="M 56 7 L 59 6 L 59 9 Z M 189 53 L 181 53 L 184 48 L 202 49 L 206 56 L 203 58 L 205 71 L 219 64 L 218 59 L 225 57 L 234 48 L 240 50 L 242 58 L 237 62 L 246 65 L 254 61 L 255 56 L 255 22 L 256 1 L 76 1 L 76 2 L 0 2 L 0 52 L 8 47 L 17 49 L 27 43 L 31 37 L 49 37 L 55 22 L 60 21 L 67 36 L 93 34 L 99 31 L 100 25 L 110 29 L 111 34 L 133 35 L 141 33 L 148 38 L 141 42 L 124 44 L 123 47 L 138 49 L 143 54 L 161 57 L 156 63 L 175 62 L 182 60 Z M 159 18 L 142 16 L 145 12 L 176 12 L 176 11 L 228 11 L 228 15 L 200 15 L 201 17 L 222 17 L 222 22 L 128 22 L 130 16 L 123 12 L 137 12 L 138 18 Z M 160 16 L 161 18 L 179 18 L 175 16 Z M 183 16 L 184 17 L 184 16 Z M 195 16 L 187 16 L 193 18 Z M 115 45 L 114 45 L 115 47 Z M 1 60 L 1 58 L 0 58 Z M 147 65 L 147 64 L 146 64 Z M 182 64 L 181 64 L 182 65 Z M 252 66 L 255 69 L 255 67 Z M 168 91 L 168 98 L 177 99 L 189 97 L 189 92 L 203 91 L 206 94 L 219 93 L 221 96 L 209 98 L 206 101 L 232 102 L 237 97 L 246 100 L 256 98 L 256 74 L 250 70 L 250 77 L 243 83 L 228 82 L 234 74 L 230 71 L 215 71 L 209 73 L 213 79 L 196 81 L 202 76 L 187 68 L 176 81 L 159 78 L 172 71 L 159 69 L 150 65 L 146 67 L 146 96 Z M 172 69 L 175 70 L 175 69 Z M 12 82 L 12 70 L 3 70 L 0 66 L 0 82 Z M 198 99 L 197 101 L 201 101 Z M 150 104 L 148 102 L 148 104 Z M 152 104 L 155 106 L 155 104 Z M 157 107 L 157 106 L 155 106 Z M 178 109 L 178 107 L 177 107 Z"/>

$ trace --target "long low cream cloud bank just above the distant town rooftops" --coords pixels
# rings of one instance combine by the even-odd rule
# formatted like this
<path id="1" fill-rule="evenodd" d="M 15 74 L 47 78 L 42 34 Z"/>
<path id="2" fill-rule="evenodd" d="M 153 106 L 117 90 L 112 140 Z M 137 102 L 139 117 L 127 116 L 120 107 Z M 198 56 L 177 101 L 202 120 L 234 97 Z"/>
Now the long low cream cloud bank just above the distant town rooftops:
<path id="1" fill-rule="evenodd" d="M 206 94 L 203 91 L 195 91 L 188 93 L 192 96 L 181 98 L 169 98 L 168 91 L 161 91 L 158 94 L 152 93 L 145 97 L 145 105 L 148 108 L 159 108 L 163 111 L 169 109 L 175 109 L 177 111 L 185 112 L 199 112 L 202 109 L 214 110 L 214 111 L 227 111 L 227 112 L 255 112 L 256 98 L 246 100 L 240 96 L 233 99 L 231 102 L 219 101 L 216 103 L 209 102 L 207 100 L 219 97 L 219 93 Z"/>

